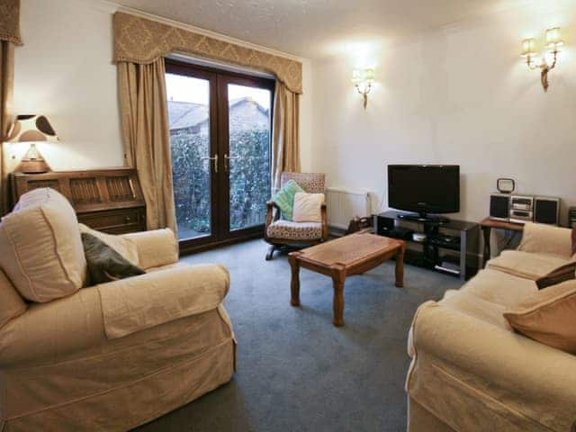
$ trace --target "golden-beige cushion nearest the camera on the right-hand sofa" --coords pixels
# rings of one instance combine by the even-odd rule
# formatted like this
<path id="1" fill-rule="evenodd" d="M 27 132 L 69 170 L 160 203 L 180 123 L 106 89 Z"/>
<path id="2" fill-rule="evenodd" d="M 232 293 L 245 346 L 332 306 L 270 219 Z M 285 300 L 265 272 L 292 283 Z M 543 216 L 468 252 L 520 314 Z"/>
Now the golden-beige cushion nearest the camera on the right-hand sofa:
<path id="1" fill-rule="evenodd" d="M 576 354 L 576 281 L 545 288 L 504 316 L 528 338 Z"/>

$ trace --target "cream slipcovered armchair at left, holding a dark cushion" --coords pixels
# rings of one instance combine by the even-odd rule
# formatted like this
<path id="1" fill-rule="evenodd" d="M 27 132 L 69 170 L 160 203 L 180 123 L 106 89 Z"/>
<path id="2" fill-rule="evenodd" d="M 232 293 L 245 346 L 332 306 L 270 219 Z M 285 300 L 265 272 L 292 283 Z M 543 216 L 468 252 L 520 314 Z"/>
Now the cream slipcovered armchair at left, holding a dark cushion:
<path id="1" fill-rule="evenodd" d="M 109 239 L 146 275 L 79 289 L 74 211 L 31 194 L 0 224 L 0 430 L 127 430 L 230 380 L 225 268 L 179 264 L 172 231 L 140 232 Z"/>

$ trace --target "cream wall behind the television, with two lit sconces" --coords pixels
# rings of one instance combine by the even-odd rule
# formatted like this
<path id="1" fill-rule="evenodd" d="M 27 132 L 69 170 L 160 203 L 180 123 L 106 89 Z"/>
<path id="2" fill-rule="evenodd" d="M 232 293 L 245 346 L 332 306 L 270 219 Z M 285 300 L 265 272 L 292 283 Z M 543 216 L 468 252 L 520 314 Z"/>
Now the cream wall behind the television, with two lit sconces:
<path id="1" fill-rule="evenodd" d="M 521 63 L 520 40 L 542 40 L 553 24 L 563 26 L 567 47 L 545 94 L 539 74 Z M 520 192 L 562 197 L 566 219 L 566 204 L 576 203 L 574 8 L 500 13 L 396 46 L 351 46 L 313 65 L 312 163 L 330 185 L 372 190 L 385 208 L 386 164 L 459 164 L 460 217 L 485 217 L 496 179 L 511 176 Z M 367 111 L 350 82 L 355 66 L 376 67 Z"/>

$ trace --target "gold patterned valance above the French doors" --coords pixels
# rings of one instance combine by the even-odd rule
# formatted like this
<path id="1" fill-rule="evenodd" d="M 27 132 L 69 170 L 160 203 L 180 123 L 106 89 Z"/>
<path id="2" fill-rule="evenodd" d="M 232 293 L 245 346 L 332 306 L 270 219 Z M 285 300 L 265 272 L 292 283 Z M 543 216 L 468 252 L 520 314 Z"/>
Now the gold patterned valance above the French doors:
<path id="1" fill-rule="evenodd" d="M 302 63 L 132 14 L 114 14 L 114 62 L 151 63 L 181 52 L 274 74 L 302 94 Z"/>

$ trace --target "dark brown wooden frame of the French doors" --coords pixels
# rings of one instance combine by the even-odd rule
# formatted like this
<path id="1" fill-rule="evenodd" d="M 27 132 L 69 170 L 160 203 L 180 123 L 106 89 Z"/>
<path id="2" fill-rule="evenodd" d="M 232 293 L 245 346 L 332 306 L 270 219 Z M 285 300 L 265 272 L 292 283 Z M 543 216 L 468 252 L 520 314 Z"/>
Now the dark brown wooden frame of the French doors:
<path id="1" fill-rule="evenodd" d="M 247 229 L 229 227 L 229 172 L 225 170 L 224 154 L 229 153 L 228 84 L 246 85 L 270 90 L 270 169 L 272 170 L 272 127 L 274 121 L 275 80 L 248 76 L 215 67 L 194 65 L 165 58 L 166 74 L 207 79 L 210 82 L 210 147 L 212 157 L 219 155 L 218 174 L 211 169 L 211 235 L 179 240 L 180 252 L 189 254 L 212 247 L 236 243 L 250 238 L 264 237 L 265 224 Z M 215 103 L 212 103 L 215 101 Z M 270 173 L 268 173 L 270 175 Z"/>

